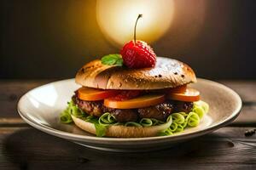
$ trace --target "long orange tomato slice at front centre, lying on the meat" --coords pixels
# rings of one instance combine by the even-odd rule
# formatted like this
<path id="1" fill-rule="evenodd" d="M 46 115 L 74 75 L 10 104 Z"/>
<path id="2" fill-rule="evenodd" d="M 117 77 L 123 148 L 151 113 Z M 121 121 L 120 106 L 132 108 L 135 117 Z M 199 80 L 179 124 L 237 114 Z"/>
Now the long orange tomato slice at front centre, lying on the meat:
<path id="1" fill-rule="evenodd" d="M 115 109 L 136 109 L 158 105 L 165 101 L 164 94 L 148 94 L 142 95 L 134 99 L 126 99 L 118 101 L 114 99 L 104 99 L 104 105 Z"/>

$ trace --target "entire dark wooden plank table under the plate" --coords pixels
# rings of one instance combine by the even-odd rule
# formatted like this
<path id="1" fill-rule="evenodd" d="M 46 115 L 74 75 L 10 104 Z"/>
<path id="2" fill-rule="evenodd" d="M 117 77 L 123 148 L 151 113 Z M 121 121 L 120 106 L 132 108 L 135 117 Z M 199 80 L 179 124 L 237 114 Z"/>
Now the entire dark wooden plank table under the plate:
<path id="1" fill-rule="evenodd" d="M 0 81 L 0 169 L 256 169 L 256 82 L 219 81 L 236 90 L 241 115 L 228 127 L 168 150 L 113 153 L 42 133 L 16 111 L 22 94 L 50 81 Z"/>

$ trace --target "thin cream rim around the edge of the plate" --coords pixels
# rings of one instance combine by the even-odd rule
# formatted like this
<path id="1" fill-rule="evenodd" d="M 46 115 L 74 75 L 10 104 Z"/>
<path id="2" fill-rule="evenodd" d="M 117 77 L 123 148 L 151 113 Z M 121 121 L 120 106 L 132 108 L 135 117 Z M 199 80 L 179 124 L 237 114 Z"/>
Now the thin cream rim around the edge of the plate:
<path id="1" fill-rule="evenodd" d="M 192 138 L 192 137 L 197 137 L 197 136 L 201 136 L 203 134 L 206 133 L 210 133 L 212 131 L 214 131 L 215 129 L 218 129 L 219 127 L 224 127 L 225 125 L 229 124 L 230 122 L 234 121 L 236 119 L 237 116 L 239 116 L 240 112 L 241 112 L 241 106 L 242 106 L 242 102 L 241 102 L 241 98 L 240 96 L 231 88 L 228 88 L 227 86 L 219 83 L 219 82 L 214 82 L 211 80 L 207 80 L 204 78 L 197 78 L 199 80 L 199 82 L 208 82 L 208 83 L 214 83 L 222 88 L 225 88 L 225 90 L 230 91 L 231 94 L 233 94 L 237 101 L 238 101 L 238 105 L 236 107 L 236 110 L 233 111 L 230 116 L 226 117 L 224 120 L 217 122 L 217 123 L 213 123 L 211 126 L 206 127 L 204 129 L 201 129 L 199 131 L 196 132 L 189 132 L 189 133 L 178 133 L 176 135 L 171 135 L 171 136 L 155 136 L 155 137 L 145 137 L 145 138 L 108 138 L 108 137 L 96 137 L 96 136 L 85 136 L 82 134 L 76 134 L 76 133 L 68 133 L 65 131 L 61 131 L 59 129 L 55 129 L 53 127 L 49 127 L 47 125 L 44 125 L 42 123 L 38 123 L 38 122 L 34 122 L 30 117 L 27 117 L 24 113 L 22 113 L 22 111 L 20 111 L 20 107 L 21 107 L 21 101 L 23 99 L 25 99 L 26 94 L 31 93 L 33 90 L 37 90 L 38 88 L 44 88 L 44 86 L 49 86 L 50 84 L 53 83 L 60 83 L 60 82 L 67 82 L 67 81 L 74 81 L 74 78 L 71 79 L 64 79 L 64 80 L 60 80 L 60 81 L 55 81 L 55 82 L 49 82 L 46 83 L 42 86 L 39 86 L 37 88 L 32 88 L 31 90 L 27 91 L 26 94 L 23 94 L 17 104 L 17 111 L 20 115 L 20 117 L 29 125 L 31 125 L 32 127 L 37 128 L 38 130 L 43 131 L 44 133 L 49 133 L 64 139 L 73 139 L 76 141 L 85 141 L 86 142 L 94 142 L 94 143 L 102 143 L 102 142 L 142 142 L 142 141 L 162 141 L 162 140 L 167 140 L 167 139 L 187 139 L 187 138 Z"/>

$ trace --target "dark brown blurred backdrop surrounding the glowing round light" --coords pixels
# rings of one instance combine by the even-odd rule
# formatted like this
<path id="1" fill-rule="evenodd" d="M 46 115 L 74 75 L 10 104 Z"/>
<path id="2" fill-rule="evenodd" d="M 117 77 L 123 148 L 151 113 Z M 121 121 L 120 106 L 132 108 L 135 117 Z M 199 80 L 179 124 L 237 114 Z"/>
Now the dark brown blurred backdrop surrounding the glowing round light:
<path id="1" fill-rule="evenodd" d="M 203 16 L 195 15 L 200 3 Z M 255 0 L 175 5 L 170 30 L 151 44 L 156 54 L 188 63 L 198 77 L 256 78 Z M 97 25 L 94 0 L 1 0 L 0 6 L 0 78 L 74 77 L 85 62 L 119 53 Z"/>

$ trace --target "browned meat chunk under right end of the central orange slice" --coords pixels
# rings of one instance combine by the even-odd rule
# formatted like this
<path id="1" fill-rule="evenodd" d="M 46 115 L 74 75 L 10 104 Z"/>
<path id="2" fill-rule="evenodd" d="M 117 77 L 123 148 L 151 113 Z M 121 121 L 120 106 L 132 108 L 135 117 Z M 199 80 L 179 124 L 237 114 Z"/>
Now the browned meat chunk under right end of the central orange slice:
<path id="1" fill-rule="evenodd" d="M 154 118 L 160 121 L 166 121 L 166 118 L 169 115 L 171 115 L 172 110 L 173 110 L 172 103 L 165 102 L 159 105 L 138 109 L 137 111 L 141 118 Z"/>

